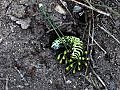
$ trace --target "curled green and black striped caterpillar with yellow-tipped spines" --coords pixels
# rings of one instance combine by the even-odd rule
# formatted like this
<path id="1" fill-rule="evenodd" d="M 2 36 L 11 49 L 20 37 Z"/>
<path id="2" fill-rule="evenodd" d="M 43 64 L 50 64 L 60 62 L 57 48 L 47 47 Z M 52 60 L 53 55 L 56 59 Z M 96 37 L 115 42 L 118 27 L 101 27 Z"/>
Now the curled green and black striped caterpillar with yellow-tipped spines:
<path id="1" fill-rule="evenodd" d="M 82 65 L 87 65 L 86 61 L 89 60 L 89 58 L 87 58 L 88 52 L 84 50 L 83 42 L 75 36 L 63 36 L 54 40 L 51 48 L 59 50 L 60 48 L 64 48 L 64 45 L 67 46 L 68 49 L 64 49 L 59 53 L 57 60 L 59 60 L 60 63 L 65 62 L 66 71 L 70 71 L 71 69 L 73 73 L 77 70 L 80 71 Z"/>

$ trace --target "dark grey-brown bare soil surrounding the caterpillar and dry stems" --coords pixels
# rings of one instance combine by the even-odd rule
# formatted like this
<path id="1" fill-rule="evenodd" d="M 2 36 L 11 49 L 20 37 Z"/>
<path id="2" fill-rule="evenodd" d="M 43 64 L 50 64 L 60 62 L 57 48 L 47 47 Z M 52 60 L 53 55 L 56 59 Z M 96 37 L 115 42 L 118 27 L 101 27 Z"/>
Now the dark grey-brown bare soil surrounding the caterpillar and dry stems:
<path id="1" fill-rule="evenodd" d="M 87 42 L 88 31 L 79 22 L 82 20 L 85 24 L 82 19 L 84 17 L 77 18 L 74 15 L 77 25 L 71 24 L 73 19 L 69 14 L 62 15 L 53 9 L 58 1 L 0 0 L 0 90 L 96 90 L 90 83 L 84 82 L 84 78 L 66 75 L 65 66 L 56 61 L 55 53 L 50 48 L 56 36 L 53 31 L 49 32 L 38 10 L 41 2 L 62 32 L 77 35 Z M 120 13 L 119 0 L 92 2 L 107 5 Z M 67 3 L 72 12 L 75 3 Z M 97 26 L 104 25 L 106 30 L 120 40 L 120 17 L 107 8 L 97 8 L 111 13 L 111 17 L 94 12 L 94 39 L 107 52 L 104 54 L 98 45 L 93 45 L 94 70 L 108 90 L 120 90 L 120 43 Z M 84 32 L 87 35 L 83 38 Z"/>

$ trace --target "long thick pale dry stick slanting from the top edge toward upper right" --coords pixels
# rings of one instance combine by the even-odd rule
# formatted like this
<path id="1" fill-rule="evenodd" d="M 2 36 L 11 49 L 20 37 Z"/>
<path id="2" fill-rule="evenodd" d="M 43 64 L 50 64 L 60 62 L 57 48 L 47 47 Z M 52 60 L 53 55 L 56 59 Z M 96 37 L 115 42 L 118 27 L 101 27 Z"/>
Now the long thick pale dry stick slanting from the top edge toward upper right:
<path id="1" fill-rule="evenodd" d="M 94 10 L 94 11 L 96 11 L 96 12 L 98 12 L 98 13 L 100 13 L 100 14 L 103 14 L 103 15 L 106 15 L 106 16 L 110 16 L 110 13 L 106 13 L 106 12 L 104 12 L 104 11 L 101 11 L 101 10 L 99 10 L 99 9 L 96 9 L 95 7 L 91 7 L 91 6 L 88 6 L 88 5 L 86 5 L 86 4 L 83 4 L 83 3 L 81 3 L 81 2 L 78 2 L 78 1 L 76 1 L 76 0 L 71 0 L 71 1 L 73 1 L 73 2 L 75 2 L 75 3 L 78 3 L 78 4 L 80 4 L 81 6 L 83 6 L 83 7 L 86 7 L 86 8 L 89 8 L 89 9 L 91 9 L 91 10 Z"/>

